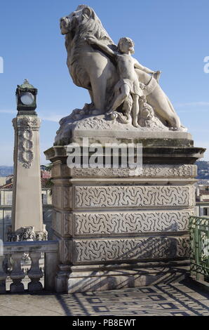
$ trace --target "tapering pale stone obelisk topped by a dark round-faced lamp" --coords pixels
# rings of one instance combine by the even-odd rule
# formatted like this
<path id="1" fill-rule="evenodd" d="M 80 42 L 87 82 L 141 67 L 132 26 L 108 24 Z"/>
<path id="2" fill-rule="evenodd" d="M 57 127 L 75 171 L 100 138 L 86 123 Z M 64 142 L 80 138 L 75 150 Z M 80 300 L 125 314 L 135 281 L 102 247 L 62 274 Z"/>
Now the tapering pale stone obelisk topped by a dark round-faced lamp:
<path id="1" fill-rule="evenodd" d="M 41 202 L 41 171 L 36 93 L 27 80 L 16 91 L 18 115 L 15 129 L 12 234 L 9 240 L 43 240 L 47 237 L 43 225 Z"/>

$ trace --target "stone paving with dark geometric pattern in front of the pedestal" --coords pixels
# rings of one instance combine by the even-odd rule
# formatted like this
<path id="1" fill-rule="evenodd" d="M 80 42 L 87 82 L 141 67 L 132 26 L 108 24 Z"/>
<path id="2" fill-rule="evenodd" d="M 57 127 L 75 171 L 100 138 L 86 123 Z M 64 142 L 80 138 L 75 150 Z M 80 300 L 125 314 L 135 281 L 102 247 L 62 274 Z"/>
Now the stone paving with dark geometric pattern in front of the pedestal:
<path id="1" fill-rule="evenodd" d="M 1 316 L 209 316 L 209 293 L 190 282 L 74 294 L 0 295 Z"/>

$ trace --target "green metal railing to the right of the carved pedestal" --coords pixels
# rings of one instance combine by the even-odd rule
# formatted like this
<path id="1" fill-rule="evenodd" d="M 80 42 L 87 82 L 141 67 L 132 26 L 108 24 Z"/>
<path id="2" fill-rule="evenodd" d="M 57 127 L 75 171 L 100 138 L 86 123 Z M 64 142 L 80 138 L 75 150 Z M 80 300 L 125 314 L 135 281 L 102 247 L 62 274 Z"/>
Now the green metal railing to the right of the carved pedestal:
<path id="1" fill-rule="evenodd" d="M 190 216 L 190 272 L 192 277 L 209 279 L 209 218 Z"/>

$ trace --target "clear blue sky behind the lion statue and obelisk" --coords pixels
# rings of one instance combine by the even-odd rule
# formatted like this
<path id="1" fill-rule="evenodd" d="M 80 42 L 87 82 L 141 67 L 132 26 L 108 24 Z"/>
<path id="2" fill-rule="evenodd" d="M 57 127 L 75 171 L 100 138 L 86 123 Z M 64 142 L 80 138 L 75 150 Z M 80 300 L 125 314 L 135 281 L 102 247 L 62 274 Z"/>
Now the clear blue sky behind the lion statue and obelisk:
<path id="1" fill-rule="evenodd" d="M 82 2 L 74 0 L 8 0 L 0 8 L 0 165 L 13 164 L 15 89 L 25 78 L 39 90 L 37 112 L 42 119 L 43 150 L 53 145 L 58 120 L 89 102 L 88 92 L 74 86 L 66 65 L 59 19 Z M 152 70 L 161 70 L 161 87 L 197 147 L 208 147 L 209 74 L 203 59 L 209 56 L 208 0 L 92 0 L 109 35 L 135 41 L 135 58 Z M 205 153 L 209 160 L 209 152 Z"/>

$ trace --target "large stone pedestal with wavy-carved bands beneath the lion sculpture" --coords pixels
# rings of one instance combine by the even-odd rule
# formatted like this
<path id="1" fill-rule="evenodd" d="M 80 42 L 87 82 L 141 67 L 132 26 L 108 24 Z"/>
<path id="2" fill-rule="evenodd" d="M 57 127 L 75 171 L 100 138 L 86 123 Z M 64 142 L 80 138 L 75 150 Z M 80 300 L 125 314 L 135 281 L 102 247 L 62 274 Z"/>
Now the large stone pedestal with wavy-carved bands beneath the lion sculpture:
<path id="1" fill-rule="evenodd" d="M 94 131 L 95 132 L 95 131 Z M 189 215 L 194 214 L 196 159 L 184 132 L 72 131 L 90 142 L 142 143 L 142 173 L 69 169 L 66 146 L 53 162 L 53 230 L 60 244 L 57 291 L 68 293 L 178 281 L 189 269 Z M 112 135 L 112 136 L 111 136 Z M 98 138 L 100 136 L 100 138 Z"/>

